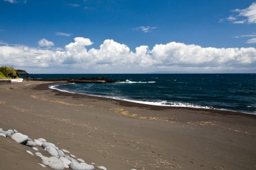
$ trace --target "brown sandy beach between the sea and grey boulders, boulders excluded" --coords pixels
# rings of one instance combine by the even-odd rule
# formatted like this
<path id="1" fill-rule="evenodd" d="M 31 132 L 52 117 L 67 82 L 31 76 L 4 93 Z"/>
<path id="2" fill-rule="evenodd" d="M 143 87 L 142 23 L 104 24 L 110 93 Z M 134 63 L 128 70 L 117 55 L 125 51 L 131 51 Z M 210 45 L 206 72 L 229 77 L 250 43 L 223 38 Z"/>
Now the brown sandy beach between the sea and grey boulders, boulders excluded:
<path id="1" fill-rule="evenodd" d="M 255 169 L 256 116 L 143 105 L 49 89 L 0 85 L 0 128 L 46 138 L 107 169 Z M 0 136 L 0 169 L 50 169 L 32 148 Z"/>

